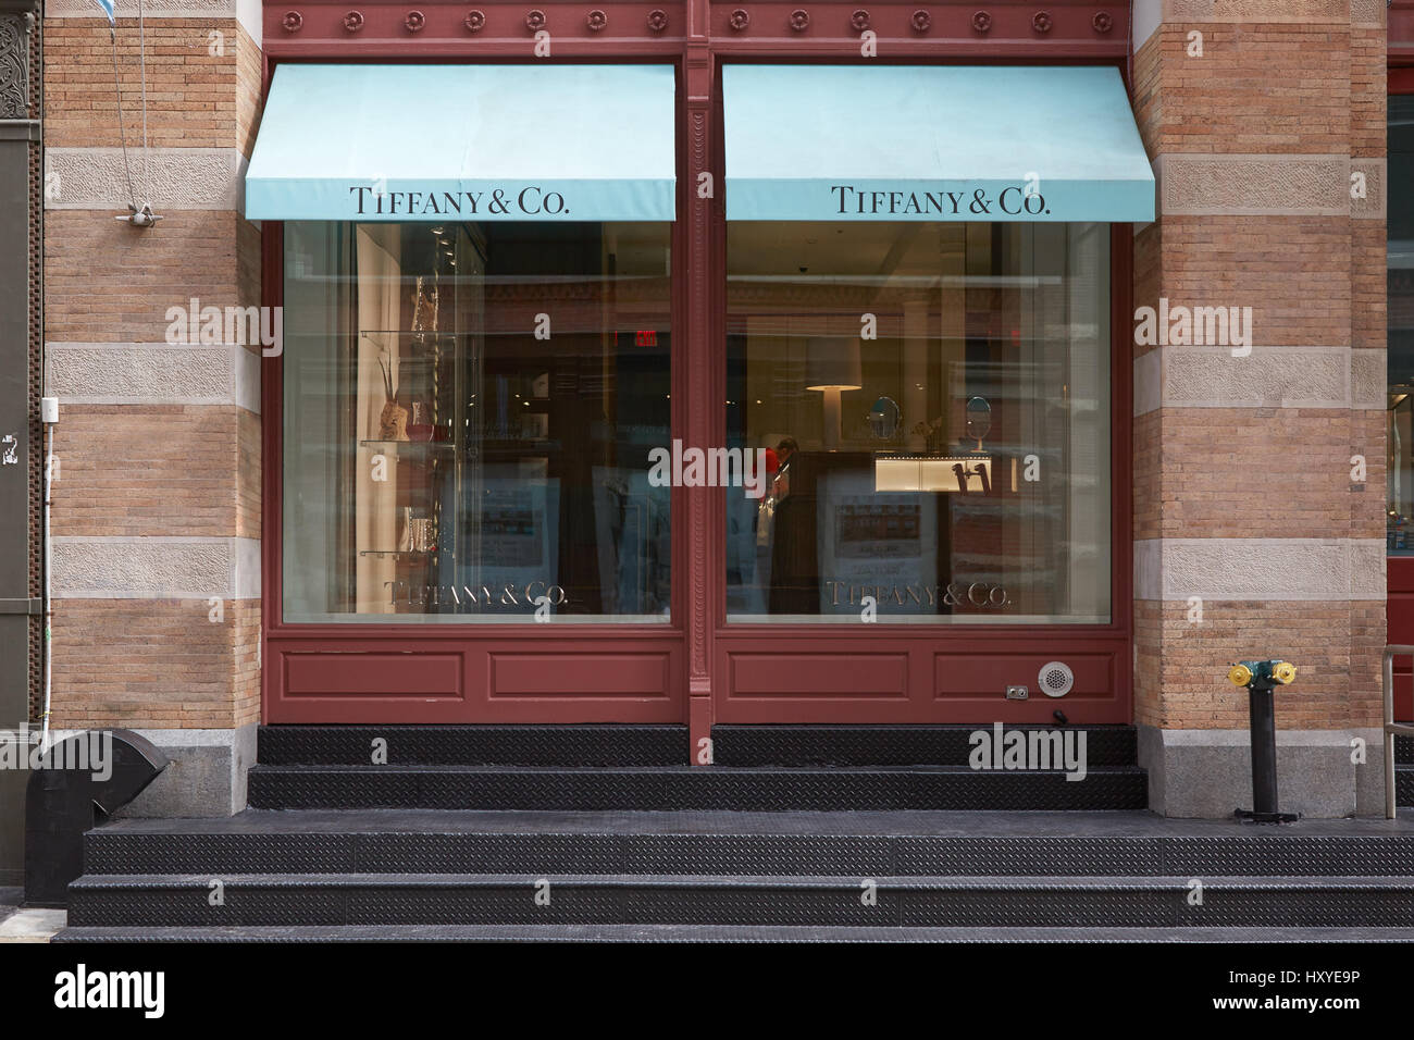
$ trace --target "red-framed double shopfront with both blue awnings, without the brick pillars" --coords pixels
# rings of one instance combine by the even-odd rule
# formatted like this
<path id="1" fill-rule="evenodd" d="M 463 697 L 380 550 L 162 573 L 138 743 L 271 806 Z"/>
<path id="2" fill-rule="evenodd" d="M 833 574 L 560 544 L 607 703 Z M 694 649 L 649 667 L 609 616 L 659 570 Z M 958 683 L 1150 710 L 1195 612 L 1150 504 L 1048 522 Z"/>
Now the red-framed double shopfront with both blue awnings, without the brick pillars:
<path id="1" fill-rule="evenodd" d="M 1123 378 L 1109 383 L 1127 337 L 1114 313 L 1128 310 L 1113 272 L 1127 270 L 1131 236 L 1056 219 L 1117 212 L 1104 194 L 1126 177 L 1131 211 L 1152 215 L 1118 69 L 710 57 L 715 157 L 682 170 L 690 141 L 673 127 L 693 123 L 674 64 L 276 67 L 253 212 L 312 214 L 331 198 L 334 212 L 385 219 L 264 231 L 283 242 L 266 267 L 284 270 L 287 344 L 264 362 L 266 525 L 283 535 L 264 580 L 264 616 L 280 618 L 267 624 L 267 720 L 696 713 L 699 739 L 717 722 L 1048 722 L 1056 705 L 1038 675 L 1062 658 L 1076 675 L 1070 717 L 1127 720 L 1128 611 L 1111 611 L 1128 597 L 1116 579 L 1128 567 L 1111 569 L 1127 555 L 1126 494 L 1110 474 L 1127 471 L 1128 398 Z M 491 163 L 458 195 L 414 158 L 406 185 L 387 177 L 385 205 L 376 177 L 300 166 L 348 133 L 311 140 L 335 126 L 321 89 L 376 98 L 361 126 L 414 110 L 389 103 L 403 92 L 529 95 L 573 117 L 482 126 L 499 139 L 451 149 L 556 141 L 519 157 L 529 183 L 498 180 Z M 943 115 L 935 100 L 899 110 L 940 98 L 990 112 L 937 151 L 995 147 L 986 125 L 1019 123 L 1034 150 L 1007 163 L 1048 171 L 1029 187 L 1005 167 L 994 181 L 946 180 L 932 154 L 906 154 Z M 1049 110 L 1028 110 L 1044 99 Z M 1127 130 L 1118 143 L 1068 120 L 1086 99 Z M 783 110 L 807 134 L 772 156 L 788 127 L 761 113 Z M 348 150 L 416 156 L 445 120 L 409 115 L 409 140 Z M 1073 143 L 1051 139 L 1056 126 Z M 577 134 L 626 161 L 580 156 Z M 885 153 L 863 167 L 882 174 L 872 190 L 848 183 L 871 143 Z M 1123 164 L 1126 143 L 1128 171 L 1094 164 L 1103 187 L 1062 173 L 1076 150 L 1117 150 Z M 477 219 L 454 224 L 452 205 Z M 701 256 L 690 225 L 663 219 L 696 207 Z M 399 208 L 419 219 L 395 219 Z M 659 219 L 554 219 L 564 209 Z M 696 313 L 701 328 L 683 317 Z M 341 386 L 346 408 L 321 408 Z M 420 440 L 375 432 L 400 398 L 428 415 L 409 426 Z M 362 454 L 341 451 L 355 439 Z M 783 461 L 782 443 L 797 446 Z M 725 468 L 714 447 L 731 453 Z M 1035 698 L 1007 700 L 1008 685 Z"/>

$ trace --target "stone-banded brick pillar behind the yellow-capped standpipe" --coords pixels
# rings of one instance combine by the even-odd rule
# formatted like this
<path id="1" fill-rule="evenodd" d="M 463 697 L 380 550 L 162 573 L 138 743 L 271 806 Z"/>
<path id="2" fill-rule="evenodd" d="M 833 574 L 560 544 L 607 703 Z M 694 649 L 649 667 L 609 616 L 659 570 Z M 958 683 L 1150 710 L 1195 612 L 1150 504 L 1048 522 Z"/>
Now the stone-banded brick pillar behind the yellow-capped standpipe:
<path id="1" fill-rule="evenodd" d="M 1135 52 L 1162 181 L 1159 221 L 1135 241 L 1135 304 L 1251 307 L 1253 349 L 1135 347 L 1135 720 L 1243 729 L 1227 662 L 1284 657 L 1299 674 L 1278 726 L 1374 726 L 1384 221 L 1348 188 L 1384 156 L 1384 35 L 1349 6 L 1299 21 L 1208 7 Z"/>

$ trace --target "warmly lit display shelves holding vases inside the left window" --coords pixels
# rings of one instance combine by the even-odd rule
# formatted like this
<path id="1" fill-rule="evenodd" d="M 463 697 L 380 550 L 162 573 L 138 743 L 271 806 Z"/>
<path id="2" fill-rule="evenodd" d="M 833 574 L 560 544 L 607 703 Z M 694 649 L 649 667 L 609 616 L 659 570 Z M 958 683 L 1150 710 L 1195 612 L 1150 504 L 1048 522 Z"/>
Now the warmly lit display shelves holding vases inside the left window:
<path id="1" fill-rule="evenodd" d="M 481 536 L 460 504 L 479 501 L 468 430 L 485 253 L 464 225 L 361 225 L 356 249 L 355 599 L 361 613 L 436 613 Z"/>

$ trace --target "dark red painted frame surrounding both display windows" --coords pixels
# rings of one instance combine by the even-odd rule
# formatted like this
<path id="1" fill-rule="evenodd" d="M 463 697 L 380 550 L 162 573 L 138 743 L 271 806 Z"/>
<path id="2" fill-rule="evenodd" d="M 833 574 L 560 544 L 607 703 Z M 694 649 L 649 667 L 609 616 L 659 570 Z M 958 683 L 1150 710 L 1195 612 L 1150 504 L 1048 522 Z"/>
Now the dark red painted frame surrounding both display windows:
<path id="1" fill-rule="evenodd" d="M 298 6 L 298 0 L 296 0 Z M 311 4 L 304 4 L 307 8 Z M 486 6 L 486 10 L 499 6 Z M 567 6 L 566 6 L 567 7 Z M 621 7 L 609 6 L 611 23 L 621 21 Z M 697 24 L 706 17 L 715 23 L 725 10 L 691 0 L 680 14 L 672 8 L 672 24 L 697 11 Z M 956 7 L 956 4 L 953 6 Z M 1015 7 L 1019 4 L 997 4 Z M 284 8 L 266 10 L 266 91 L 279 61 L 516 61 L 529 64 L 523 42 L 471 38 L 437 41 L 409 37 L 378 45 L 361 40 L 355 50 L 331 28 L 320 33 L 307 25 L 298 35 L 279 34 Z M 329 4 L 320 10 L 332 11 Z M 400 8 L 399 8 L 400 10 Z M 730 8 L 728 8 L 730 10 Z M 814 3 L 816 18 L 834 17 L 847 23 L 857 4 Z M 912 10 L 912 7 L 909 7 Z M 970 11 L 971 8 L 969 8 Z M 1029 10 L 1029 8 L 1028 8 Z M 1082 10 L 1075 4 L 1075 10 Z M 1089 10 L 1089 4 L 1085 6 Z M 339 8 L 342 11 L 342 8 Z M 826 14 L 822 14 L 824 11 Z M 1063 13 L 1062 13 L 1063 14 Z M 551 8 L 560 17 L 560 6 Z M 1017 11 L 998 11 L 1012 18 Z M 402 16 L 399 16 L 402 17 Z M 971 17 L 970 14 L 967 16 Z M 1019 16 L 1018 16 L 1019 17 Z M 1060 17 L 1060 16 L 1058 16 Z M 1069 18 L 1069 16 L 1065 16 Z M 1089 20 L 1089 13 L 1085 18 Z M 1110 40 L 1055 38 L 1003 42 L 988 40 L 946 38 L 932 41 L 901 40 L 888 50 L 881 33 L 881 54 L 898 54 L 899 64 L 1107 64 L 1116 65 L 1128 85 L 1128 23 L 1116 13 L 1116 33 Z M 1029 18 L 1029 14 L 1027 14 Z M 322 24 L 322 23 L 321 23 Z M 817 23 L 819 24 L 819 23 Z M 1072 24 L 1065 21 L 1062 24 Z M 1089 31 L 1089 27 L 1085 27 Z M 1041 30 L 1036 30 L 1039 34 Z M 1099 33 L 1096 27 L 1094 33 Z M 725 392 L 725 357 L 721 349 L 725 328 L 725 219 L 721 198 L 706 204 L 706 224 L 694 209 L 696 171 L 708 168 L 721 184 L 724 156 L 720 71 L 725 61 L 769 61 L 778 64 L 809 61 L 863 61 L 857 37 L 813 38 L 799 41 L 737 40 L 727 34 L 687 35 L 667 40 L 604 41 L 567 40 L 557 44 L 557 61 L 670 61 L 677 79 L 677 221 L 673 225 L 673 300 L 672 300 L 672 429 L 693 443 L 725 443 L 725 415 L 710 402 L 723 400 Z M 884 61 L 875 58 L 871 61 Z M 703 93 L 703 83 L 710 93 Z M 704 105 L 703 98 L 710 96 Z M 283 225 L 266 222 L 262 228 L 263 303 L 283 301 Z M 1111 621 L 1104 625 L 901 625 L 881 623 L 858 628 L 841 625 L 728 624 L 725 620 L 725 499 L 715 488 L 673 490 L 672 526 L 673 586 L 672 621 L 666 625 L 604 624 L 556 625 L 549 631 L 534 624 L 287 624 L 281 617 L 281 495 L 283 495 L 283 359 L 263 361 L 263 536 L 262 603 L 262 707 L 267 723 L 390 723 L 390 722 L 690 722 L 694 744 L 710 733 L 714 722 L 1051 722 L 1052 712 L 1063 706 L 1070 722 L 1127 723 L 1133 710 L 1133 354 L 1130 328 L 1133 316 L 1133 231 L 1131 225 L 1111 225 Z M 706 258 L 706 263 L 703 259 Z M 693 275 L 701 269 L 706 275 Z M 707 279 L 706 290 L 703 279 Z M 694 289 L 696 286 L 696 289 Z M 700 325 L 690 328 L 689 323 Z M 711 351 L 694 342 L 711 344 Z M 689 398 L 693 392 L 693 410 Z M 700 495 L 691 504 L 687 495 Z M 691 509 L 689 508 L 691 505 Z M 697 524 L 693 528 L 691 524 Z M 697 535 L 704 535 L 699 539 Z M 703 549 L 701 546 L 706 546 Z M 305 692 L 296 696 L 288 689 L 291 655 L 329 655 L 368 652 L 370 647 L 389 654 L 407 655 L 410 685 L 420 655 L 467 649 L 478 662 L 464 669 L 460 696 L 338 696 Z M 469 649 L 468 649 L 469 648 Z M 986 695 L 947 699 L 937 696 L 936 683 L 946 671 L 949 654 L 971 666 L 984 665 L 995 674 L 997 689 Z M 515 658 L 529 668 L 530 657 L 544 658 L 544 668 L 527 682 L 549 683 L 566 661 L 633 664 L 639 658 L 662 657 L 665 691 L 660 696 L 635 696 L 631 692 L 604 689 L 556 695 L 549 686 L 540 695 L 498 698 L 485 671 L 496 668 L 496 655 Z M 764 655 L 786 664 L 829 668 L 836 662 L 874 661 L 881 669 L 902 666 L 908 689 L 902 696 L 826 692 L 819 696 L 744 696 L 734 695 L 735 675 Z M 846 659 L 841 659 L 843 658 Z M 1056 702 L 1035 698 L 1028 702 L 1005 700 L 1001 688 L 1008 682 L 1035 685 L 1036 662 L 1086 658 L 1102 661 L 1107 674 L 1103 696 L 1072 696 Z M 433 661 L 433 658 L 427 658 Z M 557 664 L 559 662 L 559 664 Z M 428 668 L 428 671 L 431 671 Z M 485 688 L 478 688 L 485 682 Z M 990 682 L 990 679 L 988 679 Z M 607 681 L 612 686 L 611 681 Z M 475 689 L 474 689 L 475 688 Z"/>

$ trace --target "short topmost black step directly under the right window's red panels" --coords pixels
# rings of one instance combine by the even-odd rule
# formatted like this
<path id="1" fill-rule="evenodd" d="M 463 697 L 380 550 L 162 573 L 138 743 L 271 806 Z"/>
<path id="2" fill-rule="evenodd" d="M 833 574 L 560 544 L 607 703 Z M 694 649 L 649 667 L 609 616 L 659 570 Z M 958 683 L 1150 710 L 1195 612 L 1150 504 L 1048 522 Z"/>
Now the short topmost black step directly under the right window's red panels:
<path id="1" fill-rule="evenodd" d="M 718 765 L 966 765 L 976 726 L 713 726 Z M 1085 733 L 1090 765 L 1134 765 L 1133 726 L 1007 726 L 1005 732 Z M 1075 740 L 1076 737 L 1072 737 Z"/>

